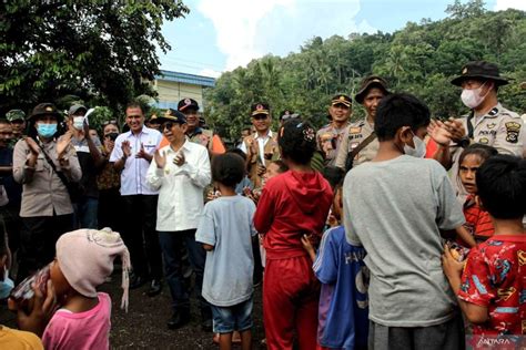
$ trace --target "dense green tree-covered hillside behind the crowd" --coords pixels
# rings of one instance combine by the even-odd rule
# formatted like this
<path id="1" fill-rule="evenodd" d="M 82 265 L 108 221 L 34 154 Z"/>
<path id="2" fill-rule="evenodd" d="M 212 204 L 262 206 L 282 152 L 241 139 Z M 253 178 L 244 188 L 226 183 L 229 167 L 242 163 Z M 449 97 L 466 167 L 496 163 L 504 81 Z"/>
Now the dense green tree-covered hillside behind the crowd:
<path id="1" fill-rule="evenodd" d="M 291 109 L 321 126 L 326 123 L 328 102 L 336 93 L 356 93 L 360 81 L 380 74 L 393 91 L 406 91 L 423 99 L 435 117 L 465 113 L 459 90 L 451 80 L 462 65 L 486 60 L 514 79 L 499 90 L 502 102 L 512 110 L 526 110 L 526 94 L 518 83 L 526 80 L 526 12 L 490 12 L 481 0 L 463 4 L 456 0 L 441 21 L 408 22 L 393 34 L 352 33 L 326 40 L 315 37 L 285 58 L 267 55 L 246 68 L 222 74 L 206 92 L 209 124 L 225 137 L 236 138 L 250 124 L 250 105 L 271 104 L 274 123 Z M 364 115 L 354 106 L 354 119 Z"/>

